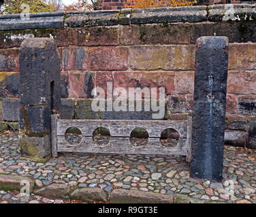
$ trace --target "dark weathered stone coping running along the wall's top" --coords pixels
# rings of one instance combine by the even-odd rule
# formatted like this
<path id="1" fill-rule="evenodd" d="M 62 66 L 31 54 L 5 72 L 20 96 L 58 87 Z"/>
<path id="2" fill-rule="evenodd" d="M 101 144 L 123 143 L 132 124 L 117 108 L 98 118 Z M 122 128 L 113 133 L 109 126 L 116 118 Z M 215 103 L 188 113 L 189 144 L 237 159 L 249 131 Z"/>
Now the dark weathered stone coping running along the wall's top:
<path id="1" fill-rule="evenodd" d="M 0 16 L 0 31 L 28 28 L 114 26 L 175 22 L 226 22 L 256 20 L 256 4 L 227 4 L 193 7 L 158 7 L 84 12 L 47 12 Z"/>

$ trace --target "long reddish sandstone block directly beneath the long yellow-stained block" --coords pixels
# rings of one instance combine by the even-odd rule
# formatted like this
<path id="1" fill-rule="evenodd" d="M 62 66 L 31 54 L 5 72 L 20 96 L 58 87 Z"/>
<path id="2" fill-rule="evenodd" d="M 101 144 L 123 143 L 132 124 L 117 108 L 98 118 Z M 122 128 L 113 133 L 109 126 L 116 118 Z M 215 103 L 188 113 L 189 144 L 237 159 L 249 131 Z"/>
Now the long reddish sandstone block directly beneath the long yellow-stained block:
<path id="1" fill-rule="evenodd" d="M 165 96 L 174 94 L 174 72 L 122 72 L 114 71 L 114 87 L 157 87 L 157 98 L 159 98 L 159 87 L 165 88 Z"/>

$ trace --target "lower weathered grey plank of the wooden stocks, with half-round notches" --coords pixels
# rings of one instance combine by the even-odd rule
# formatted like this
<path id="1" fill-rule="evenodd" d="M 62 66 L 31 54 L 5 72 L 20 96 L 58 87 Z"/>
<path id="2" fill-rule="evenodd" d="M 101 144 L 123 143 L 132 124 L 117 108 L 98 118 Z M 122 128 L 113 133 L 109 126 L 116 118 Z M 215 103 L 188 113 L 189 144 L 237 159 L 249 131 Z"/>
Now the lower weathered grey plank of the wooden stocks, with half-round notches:
<path id="1" fill-rule="evenodd" d="M 70 145 L 65 140 L 65 136 L 58 136 L 58 152 L 187 155 L 185 138 L 180 138 L 178 145 L 170 148 L 163 146 L 159 138 L 149 138 L 146 146 L 133 146 L 130 138 L 110 138 L 107 146 L 99 146 L 93 141 L 93 137 L 82 136 L 80 144 Z"/>

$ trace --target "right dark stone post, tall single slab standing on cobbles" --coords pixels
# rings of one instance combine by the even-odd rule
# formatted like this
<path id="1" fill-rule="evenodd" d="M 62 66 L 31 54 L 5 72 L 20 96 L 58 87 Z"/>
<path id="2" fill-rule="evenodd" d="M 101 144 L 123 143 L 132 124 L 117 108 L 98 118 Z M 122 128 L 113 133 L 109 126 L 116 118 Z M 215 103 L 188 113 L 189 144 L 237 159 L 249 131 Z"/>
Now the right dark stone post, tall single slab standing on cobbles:
<path id="1" fill-rule="evenodd" d="M 227 37 L 200 37 L 195 52 L 191 177 L 222 180 Z"/>

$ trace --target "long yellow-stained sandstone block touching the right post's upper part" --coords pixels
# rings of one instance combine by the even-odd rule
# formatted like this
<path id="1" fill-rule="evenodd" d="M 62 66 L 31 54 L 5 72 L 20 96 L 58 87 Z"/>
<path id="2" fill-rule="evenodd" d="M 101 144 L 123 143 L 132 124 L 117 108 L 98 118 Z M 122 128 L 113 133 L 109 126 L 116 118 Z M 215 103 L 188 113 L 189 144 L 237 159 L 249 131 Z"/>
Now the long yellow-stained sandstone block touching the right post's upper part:
<path id="1" fill-rule="evenodd" d="M 129 47 L 129 65 L 133 70 L 194 70 L 195 45 Z"/>

